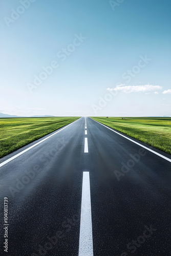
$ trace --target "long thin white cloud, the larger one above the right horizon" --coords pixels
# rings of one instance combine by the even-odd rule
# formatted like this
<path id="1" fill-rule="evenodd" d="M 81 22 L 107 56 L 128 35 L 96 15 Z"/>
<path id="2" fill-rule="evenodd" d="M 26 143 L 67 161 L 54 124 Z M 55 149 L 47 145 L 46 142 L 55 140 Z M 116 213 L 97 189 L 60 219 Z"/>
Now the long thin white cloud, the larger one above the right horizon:
<path id="1" fill-rule="evenodd" d="M 123 93 L 138 93 L 161 90 L 161 86 L 152 86 L 151 84 L 145 84 L 145 86 L 125 86 L 120 84 L 115 88 L 108 88 L 109 91 L 121 91 Z M 171 90 L 170 90 L 171 91 Z"/>

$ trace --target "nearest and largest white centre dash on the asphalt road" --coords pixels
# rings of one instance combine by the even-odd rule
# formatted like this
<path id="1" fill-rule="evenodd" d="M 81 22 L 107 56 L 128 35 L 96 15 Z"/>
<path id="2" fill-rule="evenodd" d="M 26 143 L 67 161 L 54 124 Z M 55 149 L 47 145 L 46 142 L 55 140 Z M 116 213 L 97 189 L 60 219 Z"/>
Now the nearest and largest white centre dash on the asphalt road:
<path id="1" fill-rule="evenodd" d="M 93 256 L 92 213 L 89 172 L 83 172 L 78 256 Z"/>

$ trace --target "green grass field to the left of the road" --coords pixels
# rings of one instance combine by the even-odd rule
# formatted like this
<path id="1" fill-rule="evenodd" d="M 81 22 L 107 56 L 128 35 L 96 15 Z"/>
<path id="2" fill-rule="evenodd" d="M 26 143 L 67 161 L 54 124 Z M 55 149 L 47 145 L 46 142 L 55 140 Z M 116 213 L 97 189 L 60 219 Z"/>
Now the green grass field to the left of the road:
<path id="1" fill-rule="evenodd" d="M 0 158 L 78 118 L 0 118 Z"/>

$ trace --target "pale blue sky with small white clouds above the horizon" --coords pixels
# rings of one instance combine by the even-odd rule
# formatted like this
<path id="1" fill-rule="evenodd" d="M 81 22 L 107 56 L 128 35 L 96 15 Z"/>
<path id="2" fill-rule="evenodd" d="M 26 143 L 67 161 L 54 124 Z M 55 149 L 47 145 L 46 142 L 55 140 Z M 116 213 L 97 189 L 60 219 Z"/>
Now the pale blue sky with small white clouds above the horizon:
<path id="1" fill-rule="evenodd" d="M 171 116 L 170 0 L 1 0 L 0 8 L 0 112 Z"/>

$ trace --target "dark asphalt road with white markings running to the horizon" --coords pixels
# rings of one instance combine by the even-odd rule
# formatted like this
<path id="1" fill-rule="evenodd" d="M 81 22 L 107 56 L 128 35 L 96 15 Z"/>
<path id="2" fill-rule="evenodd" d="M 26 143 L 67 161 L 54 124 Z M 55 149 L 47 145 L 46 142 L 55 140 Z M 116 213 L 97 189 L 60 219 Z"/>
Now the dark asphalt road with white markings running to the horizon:
<path id="1" fill-rule="evenodd" d="M 86 120 L 1 159 L 1 255 L 170 256 L 171 157 Z"/>

